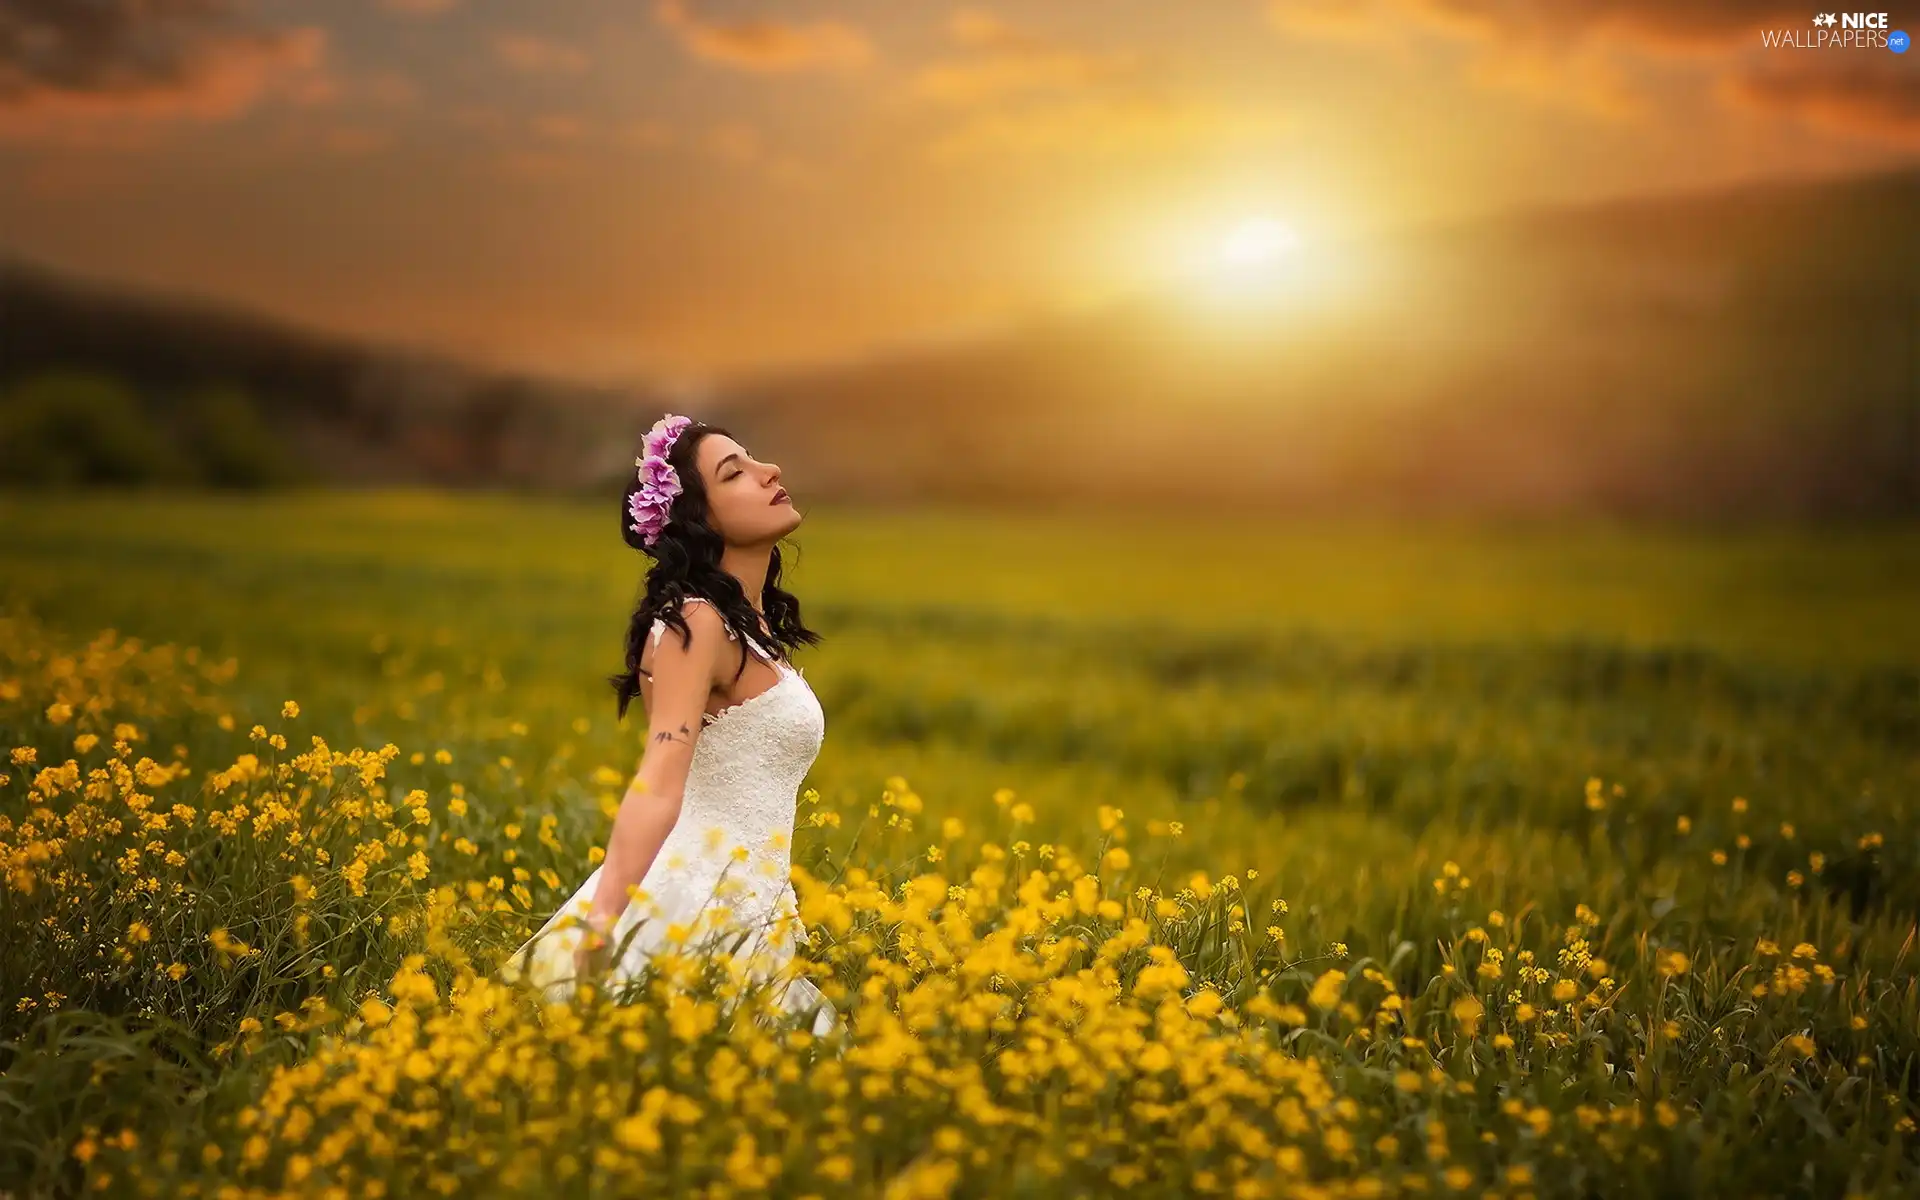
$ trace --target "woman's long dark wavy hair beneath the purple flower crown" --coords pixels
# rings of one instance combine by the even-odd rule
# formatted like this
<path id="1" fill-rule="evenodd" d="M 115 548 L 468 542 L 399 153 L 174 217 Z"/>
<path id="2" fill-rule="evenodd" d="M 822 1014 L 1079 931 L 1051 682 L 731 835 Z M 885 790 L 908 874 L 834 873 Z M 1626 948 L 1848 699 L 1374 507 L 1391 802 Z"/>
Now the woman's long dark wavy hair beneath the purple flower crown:
<path id="1" fill-rule="evenodd" d="M 634 620 L 626 628 L 626 670 L 607 676 L 618 697 L 618 716 L 622 718 L 628 705 L 639 695 L 639 653 L 647 645 L 647 634 L 653 630 L 655 618 L 664 620 L 670 630 L 680 634 L 680 645 L 693 641 L 693 630 L 687 628 L 687 620 L 680 612 L 689 595 L 701 595 L 712 603 L 735 636 L 745 632 L 755 641 L 766 643 L 753 603 L 747 601 L 747 591 L 741 589 L 739 580 L 720 566 L 726 538 L 707 520 L 707 482 L 701 480 L 695 463 L 699 461 L 701 442 L 710 434 L 733 436 L 732 430 L 695 420 L 680 432 L 674 447 L 666 451 L 666 461 L 680 474 L 682 492 L 674 497 L 666 528 L 653 545 L 641 541 L 639 534 L 632 530 L 632 515 L 628 513 L 628 503 L 639 492 L 639 480 L 630 478 L 626 490 L 620 493 L 620 538 L 634 549 L 653 557 L 653 566 L 647 570 L 645 593 L 634 609 Z M 766 563 L 766 580 L 760 584 L 760 607 L 766 612 L 766 628 L 774 636 L 768 649 L 776 655 L 787 657 L 803 645 L 820 643 L 820 634 L 801 622 L 801 601 L 780 586 L 778 545 Z M 747 643 L 741 639 L 739 668 L 733 670 L 735 680 L 747 670 Z"/>

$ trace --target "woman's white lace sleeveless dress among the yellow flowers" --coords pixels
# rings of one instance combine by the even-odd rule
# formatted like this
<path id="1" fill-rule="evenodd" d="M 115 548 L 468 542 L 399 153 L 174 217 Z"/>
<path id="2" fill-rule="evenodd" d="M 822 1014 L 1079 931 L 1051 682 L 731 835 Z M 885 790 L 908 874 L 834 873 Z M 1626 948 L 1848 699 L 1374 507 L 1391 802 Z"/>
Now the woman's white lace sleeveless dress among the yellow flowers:
<path id="1" fill-rule="evenodd" d="M 666 622 L 655 620 L 655 645 L 664 632 Z M 728 630 L 728 637 L 735 634 Z M 751 636 L 747 645 L 780 672 L 780 680 L 716 714 L 703 714 L 680 820 L 639 881 L 645 895 L 632 900 L 611 929 L 612 947 L 630 931 L 634 937 L 609 964 L 609 985 L 630 979 L 662 947 L 674 948 L 676 939 L 682 952 L 730 950 L 758 977 L 772 977 L 793 958 L 801 931 L 789 877 L 793 818 L 801 780 L 826 737 L 826 712 L 797 668 L 766 653 Z M 743 858 L 735 856 L 735 847 L 745 847 Z M 499 968 L 503 977 L 524 977 L 549 998 L 572 995 L 574 948 L 599 876 L 595 866 Z M 781 1004 L 795 1014 L 812 1012 L 816 1035 L 839 1025 L 833 1004 L 810 979 L 793 977 Z"/>

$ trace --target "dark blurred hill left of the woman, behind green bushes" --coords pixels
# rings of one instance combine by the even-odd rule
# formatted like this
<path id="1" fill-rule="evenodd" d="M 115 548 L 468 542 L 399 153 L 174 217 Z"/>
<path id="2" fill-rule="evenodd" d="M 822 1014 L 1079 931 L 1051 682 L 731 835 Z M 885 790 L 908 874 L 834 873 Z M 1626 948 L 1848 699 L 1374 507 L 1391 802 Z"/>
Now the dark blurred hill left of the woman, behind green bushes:
<path id="1" fill-rule="evenodd" d="M 593 486 L 632 463 L 645 428 L 634 424 L 645 397 L 628 392 L 0 263 L 0 397 L 46 372 L 113 380 L 144 419 L 188 444 L 200 436 L 188 415 L 196 394 L 217 388 L 219 411 L 252 405 L 301 478 L 340 484 Z"/>

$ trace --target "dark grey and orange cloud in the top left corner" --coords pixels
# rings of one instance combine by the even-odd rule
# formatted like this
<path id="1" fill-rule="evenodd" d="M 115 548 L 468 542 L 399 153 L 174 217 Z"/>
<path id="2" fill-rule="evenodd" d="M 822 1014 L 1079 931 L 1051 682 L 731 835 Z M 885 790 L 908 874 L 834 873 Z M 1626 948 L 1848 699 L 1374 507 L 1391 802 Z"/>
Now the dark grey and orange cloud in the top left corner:
<path id="1" fill-rule="evenodd" d="M 326 31 L 253 29 L 223 0 L 0 6 L 0 136 L 219 121 L 269 94 L 326 100 Z"/>

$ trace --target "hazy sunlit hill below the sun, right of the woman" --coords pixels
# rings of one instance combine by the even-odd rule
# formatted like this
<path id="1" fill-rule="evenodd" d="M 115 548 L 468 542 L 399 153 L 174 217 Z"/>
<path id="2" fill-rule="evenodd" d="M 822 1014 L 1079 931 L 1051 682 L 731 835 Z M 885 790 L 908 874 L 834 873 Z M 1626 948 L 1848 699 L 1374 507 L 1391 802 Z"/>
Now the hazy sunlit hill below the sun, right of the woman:
<path id="1" fill-rule="evenodd" d="M 1148 296 L 714 417 L 816 497 L 1920 513 L 1916 215 L 1905 171 L 1453 223 L 1265 307 Z"/>

